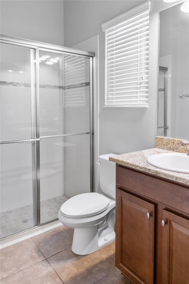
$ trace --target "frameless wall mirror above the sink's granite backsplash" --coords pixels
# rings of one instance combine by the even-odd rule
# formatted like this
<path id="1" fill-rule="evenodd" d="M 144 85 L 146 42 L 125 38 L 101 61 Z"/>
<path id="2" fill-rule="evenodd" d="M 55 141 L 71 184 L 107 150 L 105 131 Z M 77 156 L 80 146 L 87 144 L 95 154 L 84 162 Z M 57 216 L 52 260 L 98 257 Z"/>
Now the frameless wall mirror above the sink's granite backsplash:
<path id="1" fill-rule="evenodd" d="M 158 136 L 189 139 L 189 13 L 159 13 Z"/>

